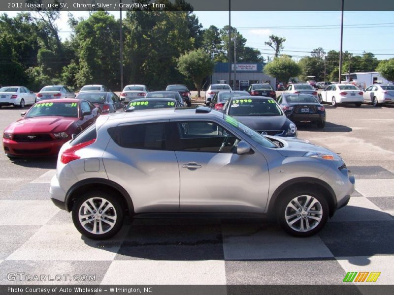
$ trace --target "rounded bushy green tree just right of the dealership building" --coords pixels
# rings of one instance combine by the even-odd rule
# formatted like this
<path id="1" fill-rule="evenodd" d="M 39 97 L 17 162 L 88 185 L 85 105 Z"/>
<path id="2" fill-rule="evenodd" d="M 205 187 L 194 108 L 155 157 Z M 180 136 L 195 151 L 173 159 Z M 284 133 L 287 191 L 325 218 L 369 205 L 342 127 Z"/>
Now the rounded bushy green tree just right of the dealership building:
<path id="1" fill-rule="evenodd" d="M 296 77 L 301 73 L 301 67 L 289 56 L 281 56 L 267 63 L 263 72 L 284 83 L 288 83 L 291 77 Z"/>

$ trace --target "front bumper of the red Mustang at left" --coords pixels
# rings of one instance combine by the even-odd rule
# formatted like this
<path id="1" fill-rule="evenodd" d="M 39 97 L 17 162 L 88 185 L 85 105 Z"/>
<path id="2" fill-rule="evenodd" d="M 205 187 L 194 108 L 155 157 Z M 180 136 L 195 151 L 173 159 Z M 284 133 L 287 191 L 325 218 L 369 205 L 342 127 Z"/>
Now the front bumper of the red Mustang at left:
<path id="1" fill-rule="evenodd" d="M 6 154 L 12 156 L 54 156 L 68 140 L 29 143 L 3 138 L 3 148 Z"/>

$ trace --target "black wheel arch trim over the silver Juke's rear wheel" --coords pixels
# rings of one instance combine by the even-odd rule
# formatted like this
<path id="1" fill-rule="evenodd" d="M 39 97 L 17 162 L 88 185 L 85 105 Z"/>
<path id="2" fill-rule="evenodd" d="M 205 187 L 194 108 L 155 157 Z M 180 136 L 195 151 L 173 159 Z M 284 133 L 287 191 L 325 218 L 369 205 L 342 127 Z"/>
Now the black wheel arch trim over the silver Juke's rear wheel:
<path id="1" fill-rule="evenodd" d="M 130 214 L 134 213 L 134 206 L 132 204 L 131 201 L 131 197 L 130 194 L 126 191 L 126 189 L 124 189 L 121 185 L 119 185 L 118 183 L 109 180 L 109 179 L 105 179 L 105 178 L 87 178 L 87 179 L 83 179 L 80 180 L 76 183 L 74 183 L 67 191 L 66 193 L 66 198 L 65 198 L 65 208 L 68 212 L 70 212 L 72 210 L 72 202 L 71 201 L 71 197 L 73 195 L 73 193 L 79 189 L 82 186 L 85 185 L 89 185 L 89 184 L 101 184 L 101 185 L 106 185 L 108 187 L 111 187 L 113 189 L 116 189 L 121 196 L 123 197 L 124 201 L 127 204 L 127 209 L 129 211 Z"/>

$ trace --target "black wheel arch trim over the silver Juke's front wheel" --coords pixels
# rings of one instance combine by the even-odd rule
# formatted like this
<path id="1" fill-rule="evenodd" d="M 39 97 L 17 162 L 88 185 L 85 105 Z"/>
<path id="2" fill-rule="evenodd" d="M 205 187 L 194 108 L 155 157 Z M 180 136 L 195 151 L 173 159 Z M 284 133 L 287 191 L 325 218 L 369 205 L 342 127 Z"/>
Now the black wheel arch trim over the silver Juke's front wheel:
<path id="1" fill-rule="evenodd" d="M 290 186 L 297 184 L 297 183 L 299 183 L 299 184 L 317 184 L 317 185 L 323 186 L 330 194 L 330 196 L 329 196 L 330 200 L 327 200 L 327 201 L 328 201 L 328 204 L 330 204 L 330 201 L 332 201 L 332 203 L 331 203 L 332 206 L 329 206 L 329 209 L 330 209 L 329 216 L 332 217 L 332 215 L 334 214 L 335 210 L 338 207 L 335 192 L 327 182 L 325 182 L 321 179 L 318 179 L 318 178 L 313 178 L 313 177 L 297 177 L 297 178 L 287 180 L 287 181 L 283 182 L 281 185 L 279 185 L 279 187 L 274 191 L 274 193 L 272 194 L 272 197 L 269 200 L 268 208 L 267 208 L 267 213 L 269 215 L 275 214 L 276 205 L 277 205 L 277 201 L 279 199 L 280 194 L 282 192 L 284 192 Z"/>

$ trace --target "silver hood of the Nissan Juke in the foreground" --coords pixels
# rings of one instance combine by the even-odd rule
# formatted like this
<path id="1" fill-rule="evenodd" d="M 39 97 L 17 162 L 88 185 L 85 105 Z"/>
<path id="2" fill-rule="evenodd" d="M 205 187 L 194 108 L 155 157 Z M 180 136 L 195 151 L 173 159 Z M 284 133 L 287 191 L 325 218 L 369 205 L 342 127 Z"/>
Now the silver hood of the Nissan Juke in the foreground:
<path id="1" fill-rule="evenodd" d="M 277 137 L 277 136 L 267 136 L 268 138 L 273 138 L 285 142 L 283 148 L 278 148 L 277 151 L 285 157 L 302 157 L 307 152 L 319 152 L 322 154 L 335 154 L 335 152 L 312 144 L 308 140 L 295 138 L 295 137 Z M 339 157 L 339 156 L 338 156 Z"/>

